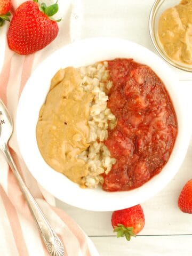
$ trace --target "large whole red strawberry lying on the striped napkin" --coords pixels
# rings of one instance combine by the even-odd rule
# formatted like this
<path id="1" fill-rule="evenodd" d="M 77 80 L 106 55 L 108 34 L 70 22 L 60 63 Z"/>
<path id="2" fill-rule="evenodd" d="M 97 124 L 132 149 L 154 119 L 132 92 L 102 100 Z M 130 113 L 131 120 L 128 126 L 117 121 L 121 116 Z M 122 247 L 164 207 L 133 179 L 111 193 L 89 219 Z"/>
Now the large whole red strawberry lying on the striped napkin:
<path id="1" fill-rule="evenodd" d="M 57 20 L 52 16 L 57 13 L 58 4 L 50 6 L 38 3 L 38 0 L 22 3 L 15 11 L 7 41 L 11 50 L 27 55 L 43 49 L 58 35 Z"/>

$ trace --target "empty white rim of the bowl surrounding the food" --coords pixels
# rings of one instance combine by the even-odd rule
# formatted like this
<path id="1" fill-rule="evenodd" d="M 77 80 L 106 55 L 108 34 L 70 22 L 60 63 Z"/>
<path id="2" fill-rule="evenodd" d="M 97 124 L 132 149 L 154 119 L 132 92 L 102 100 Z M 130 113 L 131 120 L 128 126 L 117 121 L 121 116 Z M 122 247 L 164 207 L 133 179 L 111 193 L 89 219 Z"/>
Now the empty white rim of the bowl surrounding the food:
<path id="1" fill-rule="evenodd" d="M 57 70 L 114 58 L 133 58 L 134 61 L 144 63 L 155 71 L 169 91 L 178 118 L 179 132 L 170 159 L 161 173 L 137 189 L 109 193 L 101 188 L 82 189 L 47 165 L 39 153 L 35 129 L 39 109 L 44 103 L 51 78 Z M 133 42 L 116 38 L 90 38 L 63 47 L 38 66 L 29 78 L 20 98 L 16 129 L 21 154 L 28 169 L 52 195 L 82 209 L 114 211 L 146 201 L 174 177 L 187 151 L 190 132 L 177 85 L 175 74 L 162 59 Z"/>

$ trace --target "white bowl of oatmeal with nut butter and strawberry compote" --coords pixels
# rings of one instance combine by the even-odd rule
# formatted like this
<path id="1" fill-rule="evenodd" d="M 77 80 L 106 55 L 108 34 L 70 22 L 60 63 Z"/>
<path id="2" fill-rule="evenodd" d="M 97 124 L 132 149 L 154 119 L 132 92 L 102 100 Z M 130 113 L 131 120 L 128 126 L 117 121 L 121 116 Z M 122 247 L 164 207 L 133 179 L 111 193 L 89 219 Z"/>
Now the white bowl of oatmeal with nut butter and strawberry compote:
<path id="1" fill-rule="evenodd" d="M 63 47 L 36 69 L 19 102 L 18 141 L 30 172 L 55 197 L 87 210 L 155 195 L 188 146 L 177 83 L 154 53 L 126 40 Z"/>

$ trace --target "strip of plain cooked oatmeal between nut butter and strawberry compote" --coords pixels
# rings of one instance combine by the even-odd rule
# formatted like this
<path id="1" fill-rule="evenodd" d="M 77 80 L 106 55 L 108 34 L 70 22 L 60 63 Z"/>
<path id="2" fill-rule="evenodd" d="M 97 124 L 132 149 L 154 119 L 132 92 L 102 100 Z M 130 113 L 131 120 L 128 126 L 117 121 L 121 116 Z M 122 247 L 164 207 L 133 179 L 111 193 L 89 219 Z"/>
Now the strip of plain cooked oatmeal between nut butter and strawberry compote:
<path id="1" fill-rule="evenodd" d="M 84 177 L 87 187 L 97 187 L 103 182 L 102 173 L 108 173 L 115 158 L 110 157 L 108 148 L 103 141 L 108 137 L 108 127 L 115 126 L 116 118 L 107 107 L 108 92 L 113 85 L 109 81 L 109 73 L 106 70 L 107 62 L 95 63 L 92 66 L 81 67 L 79 72 L 82 77 L 82 87 L 86 92 L 93 93 L 89 115 L 89 148 L 78 157 L 88 164 L 88 174 Z"/>

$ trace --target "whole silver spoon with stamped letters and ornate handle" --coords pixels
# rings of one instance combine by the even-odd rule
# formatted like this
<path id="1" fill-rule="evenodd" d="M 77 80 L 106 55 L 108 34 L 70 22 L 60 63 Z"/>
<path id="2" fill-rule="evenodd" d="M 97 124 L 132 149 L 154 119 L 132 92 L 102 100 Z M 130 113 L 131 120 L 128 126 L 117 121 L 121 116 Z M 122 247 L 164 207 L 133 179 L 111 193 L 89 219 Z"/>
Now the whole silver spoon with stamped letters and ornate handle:
<path id="1" fill-rule="evenodd" d="M 10 165 L 11 170 L 13 171 L 15 178 L 17 179 L 19 186 L 25 195 L 26 201 L 28 203 L 29 209 L 34 216 L 34 219 L 37 223 L 40 234 L 43 238 L 43 242 L 52 256 L 64 256 L 65 250 L 58 237 L 54 232 L 51 225 L 45 218 L 45 215 L 39 208 L 34 197 L 31 195 L 29 189 L 25 185 L 21 175 L 19 174 L 17 167 L 13 161 L 13 158 L 10 154 L 8 148 L 8 141 L 13 132 L 13 122 L 10 114 L 8 113 L 4 103 L 0 99 L 0 149 L 6 157 L 7 163 Z"/>

